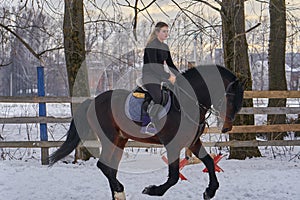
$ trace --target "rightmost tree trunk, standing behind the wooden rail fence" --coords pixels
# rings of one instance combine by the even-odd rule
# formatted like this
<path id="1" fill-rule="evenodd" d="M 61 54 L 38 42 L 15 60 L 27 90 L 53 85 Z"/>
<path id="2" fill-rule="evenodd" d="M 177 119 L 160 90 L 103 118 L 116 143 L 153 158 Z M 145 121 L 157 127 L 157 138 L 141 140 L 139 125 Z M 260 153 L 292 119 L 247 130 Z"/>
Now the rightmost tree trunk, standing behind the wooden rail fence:
<path id="1" fill-rule="evenodd" d="M 270 0 L 269 41 L 269 90 L 286 90 L 285 46 L 286 7 L 285 0 Z M 269 99 L 269 107 L 285 107 L 286 99 Z M 268 115 L 268 124 L 285 124 L 285 115 Z M 268 139 L 282 140 L 286 133 L 269 133 Z"/>

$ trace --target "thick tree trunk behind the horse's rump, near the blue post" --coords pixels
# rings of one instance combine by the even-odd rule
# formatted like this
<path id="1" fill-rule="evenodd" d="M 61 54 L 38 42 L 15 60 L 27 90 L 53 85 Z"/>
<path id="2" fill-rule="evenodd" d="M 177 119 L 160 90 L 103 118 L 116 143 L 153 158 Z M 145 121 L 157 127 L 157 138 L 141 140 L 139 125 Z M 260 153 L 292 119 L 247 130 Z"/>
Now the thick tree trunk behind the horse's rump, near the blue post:
<path id="1" fill-rule="evenodd" d="M 64 48 L 67 66 L 69 92 L 71 97 L 89 97 L 87 66 L 85 63 L 85 32 L 83 0 L 65 0 L 64 13 Z M 76 112 L 79 104 L 72 104 L 72 115 Z M 91 157 L 85 148 L 76 151 L 82 160 Z M 77 158 L 75 158 L 77 159 Z"/>

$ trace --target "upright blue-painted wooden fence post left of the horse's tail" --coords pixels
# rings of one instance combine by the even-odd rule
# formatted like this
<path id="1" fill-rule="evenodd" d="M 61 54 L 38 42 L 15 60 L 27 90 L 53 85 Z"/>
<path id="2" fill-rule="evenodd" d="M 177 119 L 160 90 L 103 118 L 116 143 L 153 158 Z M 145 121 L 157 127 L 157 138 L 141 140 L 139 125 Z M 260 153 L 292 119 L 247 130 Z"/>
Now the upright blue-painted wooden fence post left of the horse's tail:
<path id="1" fill-rule="evenodd" d="M 44 81 L 44 67 L 39 66 L 37 67 L 37 79 L 38 79 L 38 96 L 44 97 L 45 96 L 45 81 Z M 46 117 L 46 103 L 39 103 L 39 116 Z M 40 123 L 40 138 L 41 141 L 48 141 L 48 134 L 47 134 L 47 124 Z M 41 148 L 41 161 L 42 165 L 48 165 L 48 156 L 49 156 L 49 149 L 48 148 Z"/>

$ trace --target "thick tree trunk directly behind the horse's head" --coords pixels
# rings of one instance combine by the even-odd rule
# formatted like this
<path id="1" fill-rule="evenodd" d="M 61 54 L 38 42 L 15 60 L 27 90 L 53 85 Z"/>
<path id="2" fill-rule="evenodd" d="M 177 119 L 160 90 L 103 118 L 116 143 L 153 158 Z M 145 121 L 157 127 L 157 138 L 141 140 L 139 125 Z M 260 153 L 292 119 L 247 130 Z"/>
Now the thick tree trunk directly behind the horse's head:
<path id="1" fill-rule="evenodd" d="M 225 66 L 233 71 L 239 80 L 246 81 L 245 90 L 252 89 L 248 44 L 245 35 L 244 0 L 222 1 L 222 37 Z M 245 99 L 243 107 L 253 107 L 251 99 Z M 238 115 L 234 125 L 254 124 L 254 115 Z M 255 140 L 253 133 L 229 134 L 230 140 Z M 231 147 L 230 159 L 260 157 L 258 147 Z"/>

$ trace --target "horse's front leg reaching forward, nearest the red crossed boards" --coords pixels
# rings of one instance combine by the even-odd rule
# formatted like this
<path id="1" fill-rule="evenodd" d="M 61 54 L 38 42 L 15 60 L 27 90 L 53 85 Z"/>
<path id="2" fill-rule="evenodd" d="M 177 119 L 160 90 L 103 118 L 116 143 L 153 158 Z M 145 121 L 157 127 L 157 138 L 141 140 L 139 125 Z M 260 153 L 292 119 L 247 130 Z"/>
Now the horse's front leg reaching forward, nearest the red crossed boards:
<path id="1" fill-rule="evenodd" d="M 204 163 L 204 165 L 208 169 L 209 184 L 205 192 L 203 193 L 203 198 L 204 200 L 209 200 L 215 196 L 216 191 L 219 188 L 219 182 L 215 173 L 214 160 L 207 153 L 200 139 L 198 139 L 195 144 L 191 145 L 189 149 Z"/>

